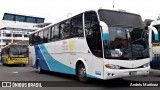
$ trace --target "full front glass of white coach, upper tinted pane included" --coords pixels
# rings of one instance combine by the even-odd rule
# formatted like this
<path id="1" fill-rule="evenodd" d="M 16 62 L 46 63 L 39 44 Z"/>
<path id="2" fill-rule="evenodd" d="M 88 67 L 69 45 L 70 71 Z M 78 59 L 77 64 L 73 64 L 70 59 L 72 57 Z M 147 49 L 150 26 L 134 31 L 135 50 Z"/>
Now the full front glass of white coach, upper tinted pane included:
<path id="1" fill-rule="evenodd" d="M 99 17 L 109 29 L 109 40 L 104 41 L 105 58 L 138 60 L 149 57 L 147 34 L 139 15 L 99 10 Z"/>

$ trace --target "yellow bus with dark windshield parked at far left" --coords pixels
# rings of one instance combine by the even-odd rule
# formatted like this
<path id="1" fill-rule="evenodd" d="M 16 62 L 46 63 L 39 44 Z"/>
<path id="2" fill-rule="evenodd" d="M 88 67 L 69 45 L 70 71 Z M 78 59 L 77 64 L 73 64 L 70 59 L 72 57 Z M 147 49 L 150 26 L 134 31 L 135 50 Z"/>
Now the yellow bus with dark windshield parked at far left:
<path id="1" fill-rule="evenodd" d="M 29 60 L 28 45 L 9 44 L 2 48 L 1 59 L 3 65 L 26 65 Z"/>

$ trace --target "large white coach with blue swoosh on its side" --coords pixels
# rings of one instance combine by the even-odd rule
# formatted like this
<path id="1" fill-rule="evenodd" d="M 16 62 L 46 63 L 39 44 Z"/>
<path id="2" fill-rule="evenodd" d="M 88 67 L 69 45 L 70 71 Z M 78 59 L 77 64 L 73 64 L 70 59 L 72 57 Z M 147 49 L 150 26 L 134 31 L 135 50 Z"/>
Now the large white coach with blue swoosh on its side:
<path id="1" fill-rule="evenodd" d="M 30 60 L 43 70 L 88 78 L 148 75 L 149 45 L 140 15 L 91 10 L 30 35 Z"/>

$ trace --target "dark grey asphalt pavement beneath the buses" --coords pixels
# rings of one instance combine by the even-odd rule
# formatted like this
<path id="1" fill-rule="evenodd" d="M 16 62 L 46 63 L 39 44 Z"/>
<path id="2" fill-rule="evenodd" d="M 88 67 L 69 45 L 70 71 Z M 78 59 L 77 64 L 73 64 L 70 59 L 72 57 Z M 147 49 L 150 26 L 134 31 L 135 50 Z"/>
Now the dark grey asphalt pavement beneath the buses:
<path id="1" fill-rule="evenodd" d="M 43 86 L 34 88 L 1 87 L 0 90 L 159 90 L 160 70 L 152 69 L 148 76 L 133 76 L 114 80 L 91 79 L 88 83 L 81 83 L 74 75 L 56 72 L 44 72 L 43 74 L 39 74 L 36 69 L 30 66 L 3 66 L 0 64 L 0 81 L 0 84 L 2 84 L 3 81 L 24 84 L 41 83 Z"/>

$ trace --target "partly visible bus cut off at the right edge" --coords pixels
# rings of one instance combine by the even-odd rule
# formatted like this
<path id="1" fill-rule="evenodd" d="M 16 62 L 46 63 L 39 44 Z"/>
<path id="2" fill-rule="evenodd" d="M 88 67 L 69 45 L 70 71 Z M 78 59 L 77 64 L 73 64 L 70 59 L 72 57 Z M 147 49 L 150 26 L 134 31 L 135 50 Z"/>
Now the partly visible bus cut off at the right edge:
<path id="1" fill-rule="evenodd" d="M 152 69 L 160 69 L 160 20 L 149 26 L 149 43 Z"/>

